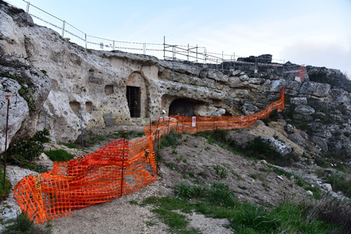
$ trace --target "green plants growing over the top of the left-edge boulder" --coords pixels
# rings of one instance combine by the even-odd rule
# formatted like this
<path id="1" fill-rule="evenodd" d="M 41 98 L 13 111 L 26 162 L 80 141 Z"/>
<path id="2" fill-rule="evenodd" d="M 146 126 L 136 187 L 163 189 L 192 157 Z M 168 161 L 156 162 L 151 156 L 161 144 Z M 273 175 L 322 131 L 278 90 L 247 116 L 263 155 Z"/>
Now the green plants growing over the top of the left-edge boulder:
<path id="1" fill-rule="evenodd" d="M 25 99 L 28 104 L 29 112 L 34 111 L 36 109 L 35 101 L 33 99 L 32 83 L 29 83 L 25 78 L 18 76 L 18 74 L 11 74 L 8 71 L 3 71 L 0 73 L 0 76 L 11 78 L 17 81 L 21 88 L 18 90 L 18 94 Z"/>

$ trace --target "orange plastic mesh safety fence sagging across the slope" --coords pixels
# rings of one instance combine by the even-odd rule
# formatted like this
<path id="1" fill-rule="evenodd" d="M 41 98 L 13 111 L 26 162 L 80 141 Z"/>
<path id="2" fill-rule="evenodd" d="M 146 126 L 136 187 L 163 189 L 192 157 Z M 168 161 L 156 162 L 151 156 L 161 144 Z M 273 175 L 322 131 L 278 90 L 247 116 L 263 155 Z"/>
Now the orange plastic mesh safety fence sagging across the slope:
<path id="1" fill-rule="evenodd" d="M 284 109 L 284 88 L 277 102 L 249 116 L 160 117 L 144 128 L 144 138 L 115 140 L 75 160 L 55 162 L 53 170 L 24 177 L 15 186 L 15 200 L 36 223 L 69 216 L 72 209 L 107 202 L 152 184 L 157 179 L 152 142 L 170 130 L 195 133 L 246 128 L 260 118 L 268 118 L 274 109 Z"/>

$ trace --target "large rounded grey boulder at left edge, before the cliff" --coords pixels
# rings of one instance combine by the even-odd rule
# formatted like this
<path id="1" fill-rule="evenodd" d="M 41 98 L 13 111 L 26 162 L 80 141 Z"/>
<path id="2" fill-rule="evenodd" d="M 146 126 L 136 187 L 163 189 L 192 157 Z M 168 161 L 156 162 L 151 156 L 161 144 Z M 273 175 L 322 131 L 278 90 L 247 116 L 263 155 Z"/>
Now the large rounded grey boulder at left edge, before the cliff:
<path id="1" fill-rule="evenodd" d="M 5 150 L 8 100 L 8 143 L 34 135 L 39 111 L 51 90 L 51 80 L 15 57 L 0 56 L 0 152 Z"/>

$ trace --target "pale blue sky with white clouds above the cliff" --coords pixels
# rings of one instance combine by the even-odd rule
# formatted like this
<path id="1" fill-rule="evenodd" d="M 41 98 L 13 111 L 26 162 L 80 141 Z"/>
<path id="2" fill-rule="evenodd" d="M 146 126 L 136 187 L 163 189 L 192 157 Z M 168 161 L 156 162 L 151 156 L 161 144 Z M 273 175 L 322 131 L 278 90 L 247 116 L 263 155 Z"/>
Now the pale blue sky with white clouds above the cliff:
<path id="1" fill-rule="evenodd" d="M 167 44 L 207 53 L 271 54 L 275 62 L 340 69 L 351 77 L 351 0 L 29 2 L 103 39 L 162 44 L 165 36 Z"/>

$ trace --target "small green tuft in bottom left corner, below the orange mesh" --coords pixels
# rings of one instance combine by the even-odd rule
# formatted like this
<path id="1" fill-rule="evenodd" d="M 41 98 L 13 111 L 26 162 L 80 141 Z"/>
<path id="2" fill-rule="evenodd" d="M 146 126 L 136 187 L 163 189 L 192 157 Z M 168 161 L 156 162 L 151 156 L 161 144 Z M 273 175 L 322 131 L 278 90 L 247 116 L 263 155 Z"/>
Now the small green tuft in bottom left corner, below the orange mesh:
<path id="1" fill-rule="evenodd" d="M 12 233 L 35 233 L 35 234 L 49 234 L 51 233 L 51 223 L 48 222 L 46 226 L 38 226 L 28 219 L 27 214 L 19 214 L 15 219 L 10 221 L 12 224 L 6 226 L 4 234 Z"/>

